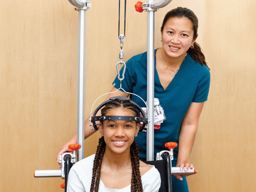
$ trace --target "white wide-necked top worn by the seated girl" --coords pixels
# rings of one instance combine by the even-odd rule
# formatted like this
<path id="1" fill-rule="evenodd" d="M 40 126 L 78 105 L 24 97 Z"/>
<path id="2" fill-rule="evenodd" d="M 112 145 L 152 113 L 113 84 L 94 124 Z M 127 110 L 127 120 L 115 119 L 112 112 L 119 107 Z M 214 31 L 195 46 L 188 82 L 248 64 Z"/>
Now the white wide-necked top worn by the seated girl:
<path id="1" fill-rule="evenodd" d="M 95 154 L 75 163 L 70 169 L 68 175 L 68 192 L 89 192 L 92 182 L 92 168 Z M 141 176 L 144 192 L 158 192 L 161 179 L 158 170 L 152 165 L 152 168 Z M 118 182 L 118 179 L 117 179 Z M 130 192 L 131 184 L 122 189 L 109 189 L 105 187 L 100 179 L 99 192 Z"/>

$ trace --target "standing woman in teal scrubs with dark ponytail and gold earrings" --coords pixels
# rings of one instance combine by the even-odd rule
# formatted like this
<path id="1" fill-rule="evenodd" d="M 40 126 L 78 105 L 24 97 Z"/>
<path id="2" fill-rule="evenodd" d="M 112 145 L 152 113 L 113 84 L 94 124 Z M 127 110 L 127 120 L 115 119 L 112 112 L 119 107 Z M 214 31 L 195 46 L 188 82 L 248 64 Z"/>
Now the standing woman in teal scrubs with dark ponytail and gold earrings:
<path id="1" fill-rule="evenodd" d="M 197 28 L 198 19 L 191 10 L 178 7 L 169 11 L 161 27 L 162 47 L 155 50 L 154 96 L 159 100 L 166 119 L 161 123 L 160 128 L 154 131 L 154 151 L 157 153 L 166 150 L 164 146 L 166 142 L 178 143 L 178 147 L 174 149 L 172 164 L 185 170 L 189 167 L 193 168 L 193 165 L 188 163 L 188 159 L 210 86 L 209 68 L 200 46 L 195 42 L 198 36 Z M 147 53 L 133 56 L 126 62 L 122 88 L 146 100 L 146 74 Z M 120 81 L 117 78 L 113 86 L 112 92 L 120 88 Z M 109 94 L 108 98 L 114 96 L 128 97 L 129 94 L 118 90 Z M 136 96 L 130 95 L 130 98 L 140 106 L 144 106 L 141 99 Z M 94 133 L 89 124 L 89 121 L 85 123 L 85 138 Z M 60 149 L 59 154 L 69 151 L 68 144 L 76 141 L 75 135 Z M 140 158 L 145 160 L 146 133 L 140 132 L 136 142 Z M 182 176 L 173 176 L 173 191 L 188 191 L 186 177 Z"/>

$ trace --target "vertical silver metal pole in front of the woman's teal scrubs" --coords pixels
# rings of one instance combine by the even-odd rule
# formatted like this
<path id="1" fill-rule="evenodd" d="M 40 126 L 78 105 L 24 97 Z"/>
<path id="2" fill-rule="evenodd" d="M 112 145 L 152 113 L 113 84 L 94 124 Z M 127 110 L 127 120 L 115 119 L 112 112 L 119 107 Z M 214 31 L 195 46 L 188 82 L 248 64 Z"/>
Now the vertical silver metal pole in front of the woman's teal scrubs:
<path id="1" fill-rule="evenodd" d="M 147 106 L 150 123 L 147 128 L 147 161 L 154 160 L 154 70 L 155 12 L 147 12 Z"/>

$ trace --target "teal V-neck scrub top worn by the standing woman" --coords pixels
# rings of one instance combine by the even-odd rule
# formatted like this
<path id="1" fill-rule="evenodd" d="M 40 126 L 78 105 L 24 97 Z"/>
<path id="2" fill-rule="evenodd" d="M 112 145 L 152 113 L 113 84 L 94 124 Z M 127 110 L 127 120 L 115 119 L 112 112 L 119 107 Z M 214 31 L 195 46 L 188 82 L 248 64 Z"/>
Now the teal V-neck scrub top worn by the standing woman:
<path id="1" fill-rule="evenodd" d="M 123 68 L 120 70 L 120 74 L 122 72 Z M 154 97 L 159 99 L 166 116 L 166 120 L 161 123 L 160 129 L 154 130 L 154 154 L 156 154 L 162 150 L 168 150 L 164 146 L 167 142 L 176 142 L 179 147 L 180 126 L 191 102 L 207 101 L 210 87 L 210 72 L 205 65 L 201 66 L 199 63 L 196 63 L 187 54 L 177 74 L 165 90 L 160 83 L 156 67 L 154 82 Z M 117 77 L 113 82 L 113 86 L 117 89 L 120 88 L 120 81 Z M 146 101 L 147 52 L 133 56 L 126 62 L 122 88 L 127 92 L 139 95 Z M 130 95 L 130 98 L 141 107 L 145 107 L 144 102 L 137 96 Z M 146 160 L 146 141 L 146 132 L 139 132 L 136 137 L 136 143 L 141 160 Z M 176 166 L 178 147 L 174 149 L 173 166 Z"/>

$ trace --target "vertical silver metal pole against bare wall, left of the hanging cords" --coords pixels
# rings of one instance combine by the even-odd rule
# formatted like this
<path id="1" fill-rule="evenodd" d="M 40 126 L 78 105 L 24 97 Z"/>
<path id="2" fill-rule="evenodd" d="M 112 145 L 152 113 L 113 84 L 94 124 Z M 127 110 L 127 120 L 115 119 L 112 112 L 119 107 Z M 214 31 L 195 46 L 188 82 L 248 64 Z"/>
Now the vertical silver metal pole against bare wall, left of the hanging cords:
<path id="1" fill-rule="evenodd" d="M 77 143 L 81 148 L 77 151 L 77 161 L 84 158 L 85 13 L 86 10 L 79 10 Z"/>

